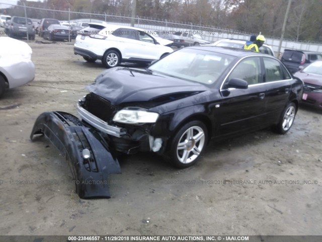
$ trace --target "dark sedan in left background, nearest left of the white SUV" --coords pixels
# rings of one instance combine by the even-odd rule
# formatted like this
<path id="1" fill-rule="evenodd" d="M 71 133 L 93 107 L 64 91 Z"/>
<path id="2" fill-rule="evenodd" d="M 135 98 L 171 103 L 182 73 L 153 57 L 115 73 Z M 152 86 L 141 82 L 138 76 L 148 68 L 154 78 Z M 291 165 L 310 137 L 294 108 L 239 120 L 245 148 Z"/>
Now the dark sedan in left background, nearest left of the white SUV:
<path id="1" fill-rule="evenodd" d="M 43 31 L 42 36 L 44 39 L 52 40 L 71 40 L 72 34 L 70 32 L 69 37 L 69 27 L 60 25 L 60 24 L 52 24 L 49 25 L 46 30 Z"/>

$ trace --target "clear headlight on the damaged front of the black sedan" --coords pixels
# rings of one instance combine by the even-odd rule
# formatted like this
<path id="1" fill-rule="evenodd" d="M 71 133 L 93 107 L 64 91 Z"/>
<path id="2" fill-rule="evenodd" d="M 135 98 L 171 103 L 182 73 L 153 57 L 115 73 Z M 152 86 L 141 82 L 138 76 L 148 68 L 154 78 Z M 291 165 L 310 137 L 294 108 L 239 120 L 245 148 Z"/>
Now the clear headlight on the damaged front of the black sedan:
<path id="1" fill-rule="evenodd" d="M 124 124 L 155 123 L 158 116 L 159 114 L 156 112 L 130 107 L 118 111 L 113 117 L 113 121 Z"/>

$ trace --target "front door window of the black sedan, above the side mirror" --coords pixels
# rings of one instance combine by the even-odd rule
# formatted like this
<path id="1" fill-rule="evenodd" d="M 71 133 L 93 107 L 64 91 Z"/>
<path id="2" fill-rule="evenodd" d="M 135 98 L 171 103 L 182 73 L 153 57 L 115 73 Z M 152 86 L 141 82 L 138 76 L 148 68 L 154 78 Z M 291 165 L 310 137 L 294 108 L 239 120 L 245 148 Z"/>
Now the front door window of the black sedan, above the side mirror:
<path id="1" fill-rule="evenodd" d="M 257 84 L 261 81 L 261 61 L 260 57 L 250 57 L 243 59 L 230 73 L 228 80 L 232 78 L 243 79 L 248 85 Z"/>

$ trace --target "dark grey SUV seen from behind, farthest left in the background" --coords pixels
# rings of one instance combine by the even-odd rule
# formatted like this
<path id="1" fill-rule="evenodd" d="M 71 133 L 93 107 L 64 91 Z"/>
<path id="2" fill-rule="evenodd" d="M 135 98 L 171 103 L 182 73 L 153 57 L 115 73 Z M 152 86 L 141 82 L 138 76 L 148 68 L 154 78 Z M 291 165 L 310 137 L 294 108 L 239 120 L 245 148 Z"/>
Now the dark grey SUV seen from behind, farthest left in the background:
<path id="1" fill-rule="evenodd" d="M 32 24 L 32 20 L 24 17 L 13 16 L 9 22 L 7 22 L 6 33 L 9 37 L 23 38 L 28 37 L 31 40 L 35 39 L 35 28 Z"/>

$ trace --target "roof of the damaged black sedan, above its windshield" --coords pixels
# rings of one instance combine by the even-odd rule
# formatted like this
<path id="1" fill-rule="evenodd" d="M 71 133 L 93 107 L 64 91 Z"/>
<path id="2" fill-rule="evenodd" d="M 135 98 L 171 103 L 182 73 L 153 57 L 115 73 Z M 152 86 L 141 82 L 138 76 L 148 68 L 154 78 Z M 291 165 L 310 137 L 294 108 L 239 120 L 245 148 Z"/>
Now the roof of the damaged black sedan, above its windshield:
<path id="1" fill-rule="evenodd" d="M 272 55 L 264 54 L 261 52 L 254 52 L 254 51 L 248 50 L 248 49 L 214 46 L 214 45 L 191 46 L 191 47 L 186 47 L 186 48 L 206 50 L 206 51 L 210 51 L 210 52 L 229 54 L 229 55 L 238 56 L 238 57 L 243 57 L 243 56 L 247 56 L 247 55 L 267 55 L 267 56 L 272 57 Z"/>

